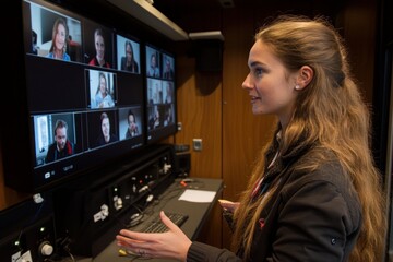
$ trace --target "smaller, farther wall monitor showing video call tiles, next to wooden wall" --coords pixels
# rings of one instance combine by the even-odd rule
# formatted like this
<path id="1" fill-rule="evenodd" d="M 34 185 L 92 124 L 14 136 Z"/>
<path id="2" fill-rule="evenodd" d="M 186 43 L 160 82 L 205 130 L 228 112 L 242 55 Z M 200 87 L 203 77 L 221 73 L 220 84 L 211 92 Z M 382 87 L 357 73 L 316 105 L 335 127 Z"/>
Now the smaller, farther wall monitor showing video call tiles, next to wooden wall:
<path id="1" fill-rule="evenodd" d="M 145 46 L 147 144 L 177 131 L 175 56 L 151 44 Z"/>

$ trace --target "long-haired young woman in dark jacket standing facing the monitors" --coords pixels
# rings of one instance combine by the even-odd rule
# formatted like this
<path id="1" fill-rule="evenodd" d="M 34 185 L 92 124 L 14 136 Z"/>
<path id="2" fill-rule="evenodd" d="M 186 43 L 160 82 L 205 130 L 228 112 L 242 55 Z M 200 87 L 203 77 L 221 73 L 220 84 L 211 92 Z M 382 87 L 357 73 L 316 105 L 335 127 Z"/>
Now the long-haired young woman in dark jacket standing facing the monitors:
<path id="1" fill-rule="evenodd" d="M 277 128 L 234 212 L 233 250 L 169 230 L 127 229 L 118 245 L 179 261 L 381 261 L 385 217 L 369 112 L 342 38 L 322 19 L 279 17 L 255 35 L 242 88 Z"/>

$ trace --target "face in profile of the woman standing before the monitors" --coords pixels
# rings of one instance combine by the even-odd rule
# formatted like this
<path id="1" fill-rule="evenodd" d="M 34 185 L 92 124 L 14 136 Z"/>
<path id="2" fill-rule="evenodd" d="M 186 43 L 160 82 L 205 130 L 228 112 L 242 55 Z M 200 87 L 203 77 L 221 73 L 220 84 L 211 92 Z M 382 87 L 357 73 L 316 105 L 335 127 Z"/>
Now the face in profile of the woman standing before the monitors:
<path id="1" fill-rule="evenodd" d="M 254 115 L 274 114 L 288 121 L 297 93 L 295 73 L 289 73 L 281 60 L 261 40 L 252 46 L 242 88 L 249 92 Z"/>

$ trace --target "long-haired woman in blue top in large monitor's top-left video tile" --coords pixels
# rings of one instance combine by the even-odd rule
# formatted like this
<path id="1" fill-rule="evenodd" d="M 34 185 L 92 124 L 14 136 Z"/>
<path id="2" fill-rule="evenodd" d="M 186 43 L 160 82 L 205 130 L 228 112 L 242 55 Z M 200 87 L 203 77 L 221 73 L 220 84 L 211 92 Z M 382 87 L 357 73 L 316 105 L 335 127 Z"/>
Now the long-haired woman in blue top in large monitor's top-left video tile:
<path id="1" fill-rule="evenodd" d="M 63 19 L 59 17 L 55 21 L 52 29 L 52 41 L 49 49 L 48 58 L 70 61 L 71 58 L 67 53 L 67 40 L 69 29 Z"/>

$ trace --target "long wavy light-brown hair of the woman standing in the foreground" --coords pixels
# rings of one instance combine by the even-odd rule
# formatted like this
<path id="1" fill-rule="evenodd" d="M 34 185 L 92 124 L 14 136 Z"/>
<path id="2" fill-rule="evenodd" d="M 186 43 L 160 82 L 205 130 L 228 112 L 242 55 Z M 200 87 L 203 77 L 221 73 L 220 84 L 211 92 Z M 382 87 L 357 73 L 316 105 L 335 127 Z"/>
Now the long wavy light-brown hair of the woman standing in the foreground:
<path id="1" fill-rule="evenodd" d="M 291 121 L 283 133 L 281 154 L 286 154 L 305 133 L 306 141 L 301 140 L 305 145 L 317 143 L 335 153 L 350 176 L 362 207 L 360 235 L 350 261 L 381 261 L 386 228 L 382 179 L 371 156 L 369 109 L 350 75 L 342 37 L 323 17 L 311 20 L 286 15 L 262 27 L 255 34 L 255 40 L 269 46 L 288 72 L 295 72 L 302 66 L 312 68 L 313 79 L 299 92 Z M 253 184 L 264 171 L 264 155 L 270 146 L 261 152 L 248 189 L 241 194 L 241 205 L 235 213 L 235 222 L 239 226 L 234 233 L 233 248 L 243 249 L 245 260 L 250 254 L 259 214 L 269 201 L 267 195 L 262 203 L 252 203 L 250 195 Z M 323 158 L 322 155 L 319 157 Z M 318 163 L 314 165 L 297 168 L 312 170 Z M 274 190 L 273 187 L 270 195 Z"/>

